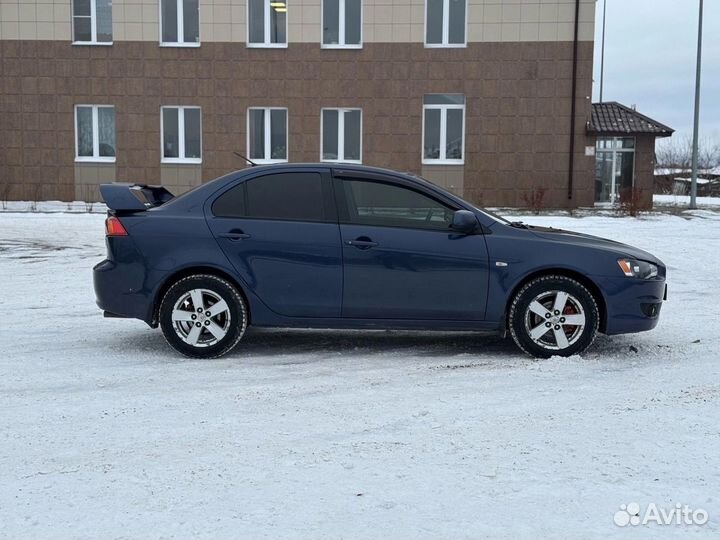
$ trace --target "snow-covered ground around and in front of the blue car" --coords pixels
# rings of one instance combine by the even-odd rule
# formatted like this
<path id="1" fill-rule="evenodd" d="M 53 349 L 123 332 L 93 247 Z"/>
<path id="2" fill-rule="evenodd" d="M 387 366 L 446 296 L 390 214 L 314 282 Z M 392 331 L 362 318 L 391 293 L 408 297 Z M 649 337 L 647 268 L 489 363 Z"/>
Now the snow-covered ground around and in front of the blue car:
<path id="1" fill-rule="evenodd" d="M 657 254 L 658 328 L 548 361 L 300 330 L 186 360 L 95 307 L 103 216 L 0 214 L 0 538 L 717 537 L 720 214 L 522 219 Z M 709 522 L 616 526 L 631 502 Z"/>

